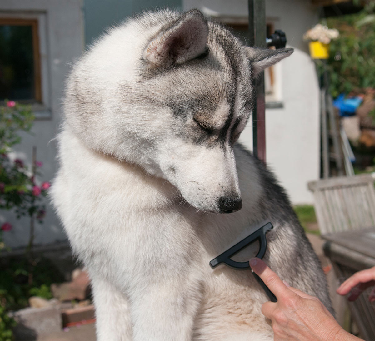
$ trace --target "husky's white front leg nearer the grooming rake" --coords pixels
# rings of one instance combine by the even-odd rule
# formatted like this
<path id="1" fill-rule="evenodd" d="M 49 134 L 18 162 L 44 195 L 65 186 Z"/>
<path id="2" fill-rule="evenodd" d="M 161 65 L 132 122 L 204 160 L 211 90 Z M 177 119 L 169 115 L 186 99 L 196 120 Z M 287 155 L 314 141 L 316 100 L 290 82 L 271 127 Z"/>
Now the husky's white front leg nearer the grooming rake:
<path id="1" fill-rule="evenodd" d="M 132 299 L 133 340 L 192 340 L 201 298 L 196 284 L 168 278 L 138 290 Z"/>

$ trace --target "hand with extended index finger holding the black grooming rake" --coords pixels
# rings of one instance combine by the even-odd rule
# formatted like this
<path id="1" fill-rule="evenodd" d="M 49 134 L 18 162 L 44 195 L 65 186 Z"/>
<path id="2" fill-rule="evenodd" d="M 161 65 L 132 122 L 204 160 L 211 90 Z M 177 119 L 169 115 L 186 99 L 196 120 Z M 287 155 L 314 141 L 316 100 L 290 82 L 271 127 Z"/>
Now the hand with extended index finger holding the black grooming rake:
<path id="1" fill-rule="evenodd" d="M 290 287 L 263 260 L 252 258 L 250 266 L 278 299 L 262 306 L 272 321 L 275 341 L 360 340 L 344 331 L 318 298 Z"/>

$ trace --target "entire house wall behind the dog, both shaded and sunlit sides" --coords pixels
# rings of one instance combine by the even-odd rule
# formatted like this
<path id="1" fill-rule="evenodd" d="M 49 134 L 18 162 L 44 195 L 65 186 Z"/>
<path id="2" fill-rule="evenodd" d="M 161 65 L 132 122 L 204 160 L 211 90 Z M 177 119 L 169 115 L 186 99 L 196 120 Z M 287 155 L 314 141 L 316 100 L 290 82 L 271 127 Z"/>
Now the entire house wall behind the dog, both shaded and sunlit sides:
<path id="1" fill-rule="evenodd" d="M 32 147 L 36 146 L 37 160 L 43 162 L 40 181 L 51 181 L 57 170 L 54 137 L 61 123 L 64 81 L 71 63 L 110 25 L 144 9 L 166 6 L 173 9 L 199 8 L 213 15 L 242 17 L 248 11 L 246 0 L 0 1 L 1 16 L 39 18 L 41 23 L 44 105 L 37 108 L 39 119 L 34 123 L 33 135 L 23 134 L 23 141 L 13 156 L 26 160 L 30 165 Z M 311 202 L 306 182 L 318 178 L 318 85 L 302 34 L 317 22 L 317 11 L 311 7 L 310 1 L 278 0 L 267 1 L 266 14 L 275 28 L 287 33 L 289 45 L 296 49 L 275 70 L 278 76 L 277 96 L 284 108 L 266 110 L 267 162 L 294 203 Z M 242 142 L 249 149 L 252 149 L 251 129 L 250 123 L 242 136 Z M 66 238 L 48 200 L 46 205 L 45 222 L 35 227 L 37 244 Z M 12 214 L 2 214 L 0 223 L 4 221 L 13 224 L 12 231 L 3 234 L 6 244 L 11 247 L 26 245 L 29 221 L 16 220 Z"/>

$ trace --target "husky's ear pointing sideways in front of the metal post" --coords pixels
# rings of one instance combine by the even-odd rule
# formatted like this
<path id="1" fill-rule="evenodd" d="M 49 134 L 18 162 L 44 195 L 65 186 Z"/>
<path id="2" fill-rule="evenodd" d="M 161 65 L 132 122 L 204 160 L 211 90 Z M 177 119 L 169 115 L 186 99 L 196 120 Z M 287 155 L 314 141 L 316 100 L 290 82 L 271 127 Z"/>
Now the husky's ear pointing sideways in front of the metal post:
<path id="1" fill-rule="evenodd" d="M 291 48 L 272 50 L 246 47 L 246 52 L 252 64 L 255 76 L 266 69 L 266 67 L 276 64 L 278 61 L 281 61 L 285 57 L 290 56 L 293 51 L 294 50 Z"/>

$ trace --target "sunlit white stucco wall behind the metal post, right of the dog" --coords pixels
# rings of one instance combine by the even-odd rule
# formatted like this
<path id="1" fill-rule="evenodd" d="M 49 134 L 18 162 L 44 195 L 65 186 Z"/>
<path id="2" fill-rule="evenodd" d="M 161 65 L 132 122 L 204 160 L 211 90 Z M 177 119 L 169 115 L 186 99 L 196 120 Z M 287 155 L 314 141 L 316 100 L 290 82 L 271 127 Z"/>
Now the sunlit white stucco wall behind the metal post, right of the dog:
<path id="1" fill-rule="evenodd" d="M 247 0 L 183 0 L 185 10 L 198 8 L 219 16 L 243 17 Z M 284 108 L 266 109 L 266 157 L 293 203 L 312 203 L 307 182 L 319 177 L 319 87 L 303 33 L 318 21 L 311 1 L 266 1 L 266 18 L 285 31 L 294 53 L 276 66 L 277 96 Z M 249 122 L 240 141 L 252 149 Z"/>

